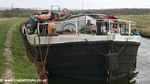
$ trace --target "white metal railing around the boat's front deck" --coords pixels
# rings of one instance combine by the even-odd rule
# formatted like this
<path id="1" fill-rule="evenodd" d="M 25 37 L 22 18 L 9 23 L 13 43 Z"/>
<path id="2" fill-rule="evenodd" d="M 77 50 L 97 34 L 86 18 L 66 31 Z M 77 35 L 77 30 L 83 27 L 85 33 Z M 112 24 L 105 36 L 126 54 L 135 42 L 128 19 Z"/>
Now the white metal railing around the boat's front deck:
<path id="1" fill-rule="evenodd" d="M 85 21 L 84 25 L 86 25 L 88 20 L 91 20 L 91 21 L 92 20 L 95 20 L 95 21 L 100 20 L 100 21 L 103 21 L 103 22 L 107 22 L 108 23 L 108 33 L 111 33 L 111 29 L 112 29 L 111 24 L 117 23 L 117 22 L 124 22 L 125 24 L 128 24 L 128 36 L 131 35 L 131 30 L 132 30 L 131 26 L 132 26 L 132 24 L 135 24 L 135 22 L 133 22 L 133 21 L 127 21 L 127 20 L 122 20 L 122 19 L 79 19 L 79 18 L 76 18 L 76 19 L 73 19 L 73 20 L 57 21 L 57 22 L 51 21 L 51 22 L 55 23 L 56 25 L 60 25 L 59 26 L 60 29 L 61 29 L 61 26 L 65 23 L 73 23 L 73 24 L 75 24 L 75 33 L 76 33 L 76 35 L 79 35 L 79 33 L 80 33 L 79 32 L 79 23 L 80 23 L 80 21 Z M 47 23 L 38 23 L 37 24 L 37 31 L 38 31 L 37 33 L 40 34 L 40 25 L 47 25 L 47 24 L 48 24 L 48 22 Z M 96 25 L 96 23 L 95 23 L 95 25 Z M 118 27 L 117 27 L 117 29 L 118 29 Z"/>

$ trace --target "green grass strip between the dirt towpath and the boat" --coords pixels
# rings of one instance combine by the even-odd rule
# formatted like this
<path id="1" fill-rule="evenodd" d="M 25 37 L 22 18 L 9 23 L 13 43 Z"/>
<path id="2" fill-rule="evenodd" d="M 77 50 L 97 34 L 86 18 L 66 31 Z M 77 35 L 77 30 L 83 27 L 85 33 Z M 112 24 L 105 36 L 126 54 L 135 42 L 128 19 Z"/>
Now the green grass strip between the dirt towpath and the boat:
<path id="1" fill-rule="evenodd" d="M 25 46 L 19 30 L 19 24 L 17 25 L 16 31 L 13 34 L 13 73 L 16 79 L 37 79 L 39 78 L 37 70 L 34 64 L 31 63 L 25 55 Z"/>

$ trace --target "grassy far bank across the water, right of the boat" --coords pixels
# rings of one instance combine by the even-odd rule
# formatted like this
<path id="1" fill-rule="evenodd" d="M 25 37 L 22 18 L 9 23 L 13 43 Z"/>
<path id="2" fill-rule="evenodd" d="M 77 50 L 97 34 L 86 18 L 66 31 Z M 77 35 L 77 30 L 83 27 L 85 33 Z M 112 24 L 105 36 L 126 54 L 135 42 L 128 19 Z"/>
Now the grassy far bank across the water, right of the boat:
<path id="1" fill-rule="evenodd" d="M 132 20 L 137 23 L 136 27 L 140 34 L 144 37 L 150 38 L 150 14 L 142 15 L 119 15 L 119 18 Z"/>

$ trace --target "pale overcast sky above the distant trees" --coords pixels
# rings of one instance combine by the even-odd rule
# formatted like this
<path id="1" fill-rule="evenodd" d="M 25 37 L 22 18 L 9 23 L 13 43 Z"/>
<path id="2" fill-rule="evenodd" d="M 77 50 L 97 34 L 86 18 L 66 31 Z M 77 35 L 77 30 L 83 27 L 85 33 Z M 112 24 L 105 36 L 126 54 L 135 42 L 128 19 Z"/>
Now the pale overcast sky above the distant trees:
<path id="1" fill-rule="evenodd" d="M 60 5 L 62 8 L 82 9 L 106 8 L 150 8 L 150 0 L 0 0 L 0 7 L 15 8 L 46 8 L 51 5 Z"/>

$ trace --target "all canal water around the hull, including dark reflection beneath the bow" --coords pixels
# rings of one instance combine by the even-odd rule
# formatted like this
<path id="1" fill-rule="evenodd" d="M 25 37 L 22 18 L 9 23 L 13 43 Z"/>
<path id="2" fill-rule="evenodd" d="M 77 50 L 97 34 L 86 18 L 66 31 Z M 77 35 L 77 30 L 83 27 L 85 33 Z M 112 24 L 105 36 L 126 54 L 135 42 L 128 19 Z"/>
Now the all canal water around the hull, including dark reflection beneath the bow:
<path id="1" fill-rule="evenodd" d="M 150 39 L 141 38 L 137 55 L 136 74 L 112 81 L 111 84 L 150 84 Z M 105 81 L 76 80 L 49 76 L 49 84 L 107 84 Z"/>

